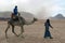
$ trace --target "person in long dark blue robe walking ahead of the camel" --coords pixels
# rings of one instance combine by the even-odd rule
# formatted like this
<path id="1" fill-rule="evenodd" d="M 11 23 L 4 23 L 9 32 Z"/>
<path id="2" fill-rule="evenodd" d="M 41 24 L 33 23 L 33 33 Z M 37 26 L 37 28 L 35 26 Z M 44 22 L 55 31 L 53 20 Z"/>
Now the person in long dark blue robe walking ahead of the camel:
<path id="1" fill-rule="evenodd" d="M 44 23 L 44 27 L 46 27 L 44 38 L 48 38 L 48 37 L 49 37 L 50 39 L 53 39 L 53 38 L 51 37 L 50 31 L 49 31 L 50 27 L 53 28 L 53 27 L 51 26 L 51 24 L 50 24 L 50 19 L 47 19 L 47 22 Z"/>

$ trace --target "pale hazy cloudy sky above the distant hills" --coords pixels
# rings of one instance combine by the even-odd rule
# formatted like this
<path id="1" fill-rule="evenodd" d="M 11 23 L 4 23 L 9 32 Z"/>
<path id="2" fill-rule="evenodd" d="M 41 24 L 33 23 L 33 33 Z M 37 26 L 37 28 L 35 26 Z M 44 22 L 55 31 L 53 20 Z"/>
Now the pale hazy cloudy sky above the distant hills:
<path id="1" fill-rule="evenodd" d="M 65 0 L 1 0 L 0 12 L 13 11 L 14 5 L 18 6 L 18 11 L 30 12 L 39 17 L 58 13 L 65 16 Z"/>

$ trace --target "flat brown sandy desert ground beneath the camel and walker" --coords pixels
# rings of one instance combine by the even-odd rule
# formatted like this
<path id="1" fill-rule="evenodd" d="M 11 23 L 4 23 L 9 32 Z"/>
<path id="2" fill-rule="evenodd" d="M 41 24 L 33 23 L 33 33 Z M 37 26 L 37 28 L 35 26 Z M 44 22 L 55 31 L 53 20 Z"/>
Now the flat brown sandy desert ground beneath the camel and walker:
<path id="1" fill-rule="evenodd" d="M 65 20 L 51 20 L 50 28 L 53 39 L 44 39 L 44 20 L 36 22 L 32 25 L 24 26 L 24 38 L 15 37 L 10 28 L 8 31 L 9 39 L 4 35 L 6 22 L 0 22 L 0 43 L 65 43 Z M 21 28 L 15 27 L 15 32 L 20 33 Z"/>

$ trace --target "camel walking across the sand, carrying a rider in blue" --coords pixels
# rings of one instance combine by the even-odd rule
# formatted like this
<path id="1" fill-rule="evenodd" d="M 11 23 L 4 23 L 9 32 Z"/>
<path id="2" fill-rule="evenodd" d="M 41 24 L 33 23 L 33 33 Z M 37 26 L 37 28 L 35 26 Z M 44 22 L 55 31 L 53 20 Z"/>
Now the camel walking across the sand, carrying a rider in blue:
<path id="1" fill-rule="evenodd" d="M 20 35 L 23 35 L 24 25 L 31 25 L 31 24 L 34 24 L 35 22 L 37 22 L 37 18 L 35 18 L 35 17 L 34 17 L 34 20 L 32 20 L 32 22 L 28 23 L 28 22 L 26 22 L 25 18 L 23 18 L 22 16 L 18 17 L 18 20 L 16 20 L 16 22 L 14 22 L 13 19 L 8 20 L 8 27 L 6 27 L 6 29 L 5 29 L 5 38 L 8 38 L 6 32 L 8 32 L 9 28 L 10 28 L 10 26 L 12 26 L 12 32 L 13 32 L 16 37 L 20 37 Z M 20 34 L 16 34 L 16 33 L 14 32 L 14 27 L 15 27 L 15 26 L 20 26 L 20 27 L 21 27 L 21 33 L 20 33 Z"/>

